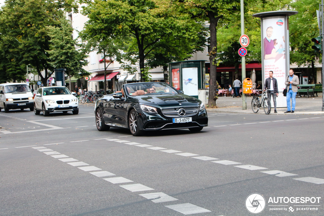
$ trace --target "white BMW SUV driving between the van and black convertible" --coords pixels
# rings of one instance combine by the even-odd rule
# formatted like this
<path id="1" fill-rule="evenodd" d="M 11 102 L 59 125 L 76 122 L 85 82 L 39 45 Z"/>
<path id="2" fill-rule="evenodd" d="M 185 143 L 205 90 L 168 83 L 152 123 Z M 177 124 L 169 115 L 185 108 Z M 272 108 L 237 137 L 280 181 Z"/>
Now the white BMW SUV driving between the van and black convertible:
<path id="1" fill-rule="evenodd" d="M 34 112 L 48 116 L 52 112 L 79 113 L 77 98 L 64 86 L 41 87 L 34 97 Z"/>

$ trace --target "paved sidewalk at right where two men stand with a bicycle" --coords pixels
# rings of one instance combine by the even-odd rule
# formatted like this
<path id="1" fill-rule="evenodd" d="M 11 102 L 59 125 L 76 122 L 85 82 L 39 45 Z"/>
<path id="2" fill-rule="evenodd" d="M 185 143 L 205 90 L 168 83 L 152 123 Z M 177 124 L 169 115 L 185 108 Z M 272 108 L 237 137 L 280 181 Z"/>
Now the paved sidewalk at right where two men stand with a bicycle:
<path id="1" fill-rule="evenodd" d="M 233 97 L 218 97 L 217 107 L 218 108 L 207 108 L 208 112 L 213 113 L 253 113 L 251 109 L 252 97 L 246 97 L 247 109 L 242 110 L 243 100 L 240 98 Z M 206 104 L 205 104 L 206 106 Z M 291 114 L 284 113 L 287 111 L 287 108 L 277 108 L 276 114 Z M 254 114 L 254 113 L 253 113 Z M 265 114 L 263 107 L 260 107 L 260 110 L 257 114 Z M 271 109 L 270 114 L 275 114 L 274 109 Z M 307 98 L 307 97 L 296 97 L 296 107 L 294 114 L 324 114 L 322 112 L 322 94 L 318 94 L 318 97 Z"/>

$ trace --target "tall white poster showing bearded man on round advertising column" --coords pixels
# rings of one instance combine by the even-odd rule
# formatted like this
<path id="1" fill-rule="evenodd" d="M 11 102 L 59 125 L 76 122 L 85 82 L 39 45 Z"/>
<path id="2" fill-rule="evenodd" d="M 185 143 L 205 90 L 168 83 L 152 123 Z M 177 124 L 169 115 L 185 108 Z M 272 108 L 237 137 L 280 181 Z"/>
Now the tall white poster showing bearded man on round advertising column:
<path id="1" fill-rule="evenodd" d="M 285 18 L 262 19 L 262 45 L 263 45 L 263 80 L 273 71 L 277 79 L 279 92 L 285 89 L 286 55 L 285 55 Z M 288 63 L 289 64 L 289 63 Z"/>

